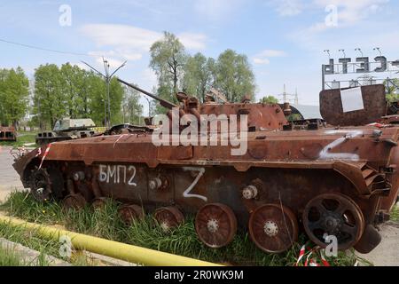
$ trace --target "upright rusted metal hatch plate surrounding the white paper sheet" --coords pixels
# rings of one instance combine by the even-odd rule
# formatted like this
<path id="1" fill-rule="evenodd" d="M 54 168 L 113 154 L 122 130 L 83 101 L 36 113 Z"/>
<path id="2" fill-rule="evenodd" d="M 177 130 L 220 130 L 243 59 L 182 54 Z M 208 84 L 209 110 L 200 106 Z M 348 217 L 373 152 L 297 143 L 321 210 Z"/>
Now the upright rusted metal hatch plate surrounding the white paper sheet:
<path id="1" fill-rule="evenodd" d="M 342 106 L 341 91 L 337 89 L 320 92 L 320 114 L 331 125 L 365 125 L 376 122 L 387 112 L 383 84 L 361 87 L 363 109 L 346 113 Z"/>

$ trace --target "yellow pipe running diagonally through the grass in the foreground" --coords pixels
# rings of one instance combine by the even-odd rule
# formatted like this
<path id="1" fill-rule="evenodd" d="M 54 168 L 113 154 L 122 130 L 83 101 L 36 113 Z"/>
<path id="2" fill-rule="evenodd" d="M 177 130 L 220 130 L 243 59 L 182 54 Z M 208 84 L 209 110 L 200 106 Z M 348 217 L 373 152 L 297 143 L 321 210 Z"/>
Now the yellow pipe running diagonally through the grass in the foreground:
<path id="1" fill-rule="evenodd" d="M 92 237 L 82 233 L 74 233 L 57 229 L 46 225 L 28 223 L 26 221 L 0 216 L 0 223 L 4 225 L 22 226 L 28 230 L 35 230 L 45 239 L 59 241 L 59 237 L 66 235 L 71 238 L 74 248 L 85 249 L 99 255 L 129 261 L 134 264 L 145 264 L 149 266 L 218 266 L 219 264 L 208 263 L 198 259 L 185 256 L 176 256 L 166 252 L 149 248 L 140 248 L 118 241 L 109 241 Z"/>

